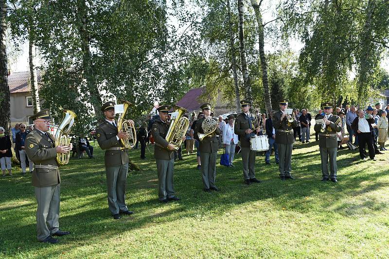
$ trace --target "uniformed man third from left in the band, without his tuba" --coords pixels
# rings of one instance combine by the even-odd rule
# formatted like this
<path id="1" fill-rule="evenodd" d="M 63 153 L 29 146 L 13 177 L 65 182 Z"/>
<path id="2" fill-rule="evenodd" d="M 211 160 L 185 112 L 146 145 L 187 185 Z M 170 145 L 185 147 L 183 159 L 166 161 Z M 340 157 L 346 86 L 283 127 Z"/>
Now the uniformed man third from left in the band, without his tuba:
<path id="1" fill-rule="evenodd" d="M 174 192 L 174 146 L 166 141 L 166 133 L 170 126 L 169 109 L 167 105 L 159 106 L 157 109 L 159 117 L 151 127 L 156 143 L 154 158 L 158 171 L 158 199 L 162 203 L 179 200 Z"/>

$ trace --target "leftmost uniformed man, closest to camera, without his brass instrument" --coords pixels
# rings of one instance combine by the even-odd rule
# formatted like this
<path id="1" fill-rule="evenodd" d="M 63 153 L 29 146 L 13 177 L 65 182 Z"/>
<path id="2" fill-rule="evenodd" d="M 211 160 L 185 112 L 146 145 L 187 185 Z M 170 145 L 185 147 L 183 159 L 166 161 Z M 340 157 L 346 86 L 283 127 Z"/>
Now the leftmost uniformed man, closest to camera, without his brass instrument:
<path id="1" fill-rule="evenodd" d="M 35 186 L 36 233 L 40 242 L 58 243 L 53 236 L 68 235 L 70 232 L 59 230 L 59 194 L 61 177 L 59 175 L 57 153 L 70 152 L 72 145 L 54 146 L 53 137 L 47 133 L 50 129 L 50 111 L 42 110 L 30 117 L 35 129 L 26 137 L 25 150 L 28 158 L 34 162 L 32 184 Z"/>

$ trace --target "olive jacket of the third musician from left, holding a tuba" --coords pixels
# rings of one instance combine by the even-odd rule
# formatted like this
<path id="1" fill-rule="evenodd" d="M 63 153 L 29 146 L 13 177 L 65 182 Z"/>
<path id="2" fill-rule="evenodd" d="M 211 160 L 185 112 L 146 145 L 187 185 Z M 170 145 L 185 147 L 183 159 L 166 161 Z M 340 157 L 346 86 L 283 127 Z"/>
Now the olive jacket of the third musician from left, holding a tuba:
<path id="1" fill-rule="evenodd" d="M 154 158 L 161 160 L 172 160 L 174 158 L 174 152 L 166 149 L 169 144 L 166 141 L 166 133 L 169 129 L 170 124 L 168 122 L 163 122 L 160 118 L 154 121 L 151 126 L 151 132 L 153 132 L 153 137 L 155 143 L 154 145 Z"/>

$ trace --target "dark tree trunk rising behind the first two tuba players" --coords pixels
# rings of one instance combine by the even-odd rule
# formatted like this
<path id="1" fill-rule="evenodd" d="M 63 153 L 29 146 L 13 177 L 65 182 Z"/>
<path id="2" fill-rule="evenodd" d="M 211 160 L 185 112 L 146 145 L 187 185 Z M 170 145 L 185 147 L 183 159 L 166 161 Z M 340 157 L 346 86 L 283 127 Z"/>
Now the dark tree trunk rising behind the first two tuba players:
<path id="1" fill-rule="evenodd" d="M 88 32 L 88 15 L 86 0 L 77 1 L 77 18 L 79 22 L 79 33 L 81 38 L 81 51 L 83 56 L 83 76 L 86 80 L 90 102 L 93 106 L 94 113 L 97 118 L 102 118 L 100 111 L 102 101 L 98 87 L 95 82 L 95 77 L 92 68 L 92 60 L 89 46 L 89 32 Z"/>

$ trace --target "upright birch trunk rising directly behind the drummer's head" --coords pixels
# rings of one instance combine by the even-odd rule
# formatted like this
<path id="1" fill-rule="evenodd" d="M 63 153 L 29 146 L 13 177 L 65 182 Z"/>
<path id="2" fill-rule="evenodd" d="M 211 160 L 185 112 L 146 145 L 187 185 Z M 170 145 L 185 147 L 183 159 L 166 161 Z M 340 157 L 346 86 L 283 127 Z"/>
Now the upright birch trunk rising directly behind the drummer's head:
<path id="1" fill-rule="evenodd" d="M 240 50 L 240 59 L 242 63 L 242 74 L 243 74 L 243 84 L 245 87 L 245 99 L 252 101 L 251 94 L 251 81 L 250 74 L 248 73 L 247 60 L 246 60 L 246 48 L 245 48 L 245 38 L 244 38 L 244 6 L 243 0 L 238 0 L 238 14 L 239 14 L 239 50 Z"/>

